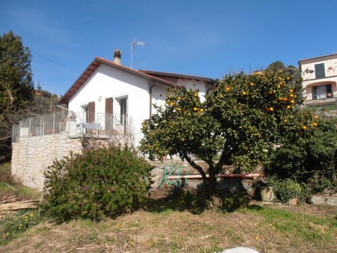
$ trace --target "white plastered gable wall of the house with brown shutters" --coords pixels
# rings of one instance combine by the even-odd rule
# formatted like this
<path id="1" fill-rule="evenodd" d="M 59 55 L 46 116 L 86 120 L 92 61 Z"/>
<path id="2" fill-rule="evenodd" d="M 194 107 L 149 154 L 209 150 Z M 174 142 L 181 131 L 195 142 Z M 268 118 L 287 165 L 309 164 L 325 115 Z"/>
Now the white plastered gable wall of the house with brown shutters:
<path id="1" fill-rule="evenodd" d="M 140 126 L 150 115 L 150 95 L 147 80 L 134 74 L 100 65 L 84 85 L 72 96 L 70 111 L 81 112 L 83 105 L 95 102 L 95 112 L 105 112 L 105 98 L 114 98 L 113 110 L 119 115 L 119 98 L 128 98 L 128 117 L 132 118 L 138 142 Z"/>

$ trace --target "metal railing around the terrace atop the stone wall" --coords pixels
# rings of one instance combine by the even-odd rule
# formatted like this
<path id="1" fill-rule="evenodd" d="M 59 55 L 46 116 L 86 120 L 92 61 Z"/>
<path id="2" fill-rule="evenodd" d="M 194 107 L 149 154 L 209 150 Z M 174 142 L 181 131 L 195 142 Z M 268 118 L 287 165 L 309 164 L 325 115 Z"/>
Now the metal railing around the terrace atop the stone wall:
<path id="1" fill-rule="evenodd" d="M 128 133 L 131 119 L 103 112 L 54 112 L 48 115 L 39 115 L 20 121 L 13 126 L 12 141 L 19 141 L 20 137 L 41 136 L 67 132 L 70 137 L 91 135 L 101 138 L 110 138 L 114 135 Z"/>

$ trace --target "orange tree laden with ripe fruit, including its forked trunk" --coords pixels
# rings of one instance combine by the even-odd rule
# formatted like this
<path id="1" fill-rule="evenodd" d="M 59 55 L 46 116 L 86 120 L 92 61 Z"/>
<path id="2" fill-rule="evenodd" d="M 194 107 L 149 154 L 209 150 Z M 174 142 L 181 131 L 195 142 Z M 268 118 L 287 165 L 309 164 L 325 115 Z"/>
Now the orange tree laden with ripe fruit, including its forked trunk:
<path id="1" fill-rule="evenodd" d="M 227 75 L 203 101 L 198 91 L 175 89 L 143 123 L 140 150 L 150 159 L 178 154 L 199 171 L 206 194 L 215 195 L 223 165 L 253 171 L 277 146 L 311 134 L 317 122 L 299 109 L 301 94 L 300 82 L 284 72 Z"/>

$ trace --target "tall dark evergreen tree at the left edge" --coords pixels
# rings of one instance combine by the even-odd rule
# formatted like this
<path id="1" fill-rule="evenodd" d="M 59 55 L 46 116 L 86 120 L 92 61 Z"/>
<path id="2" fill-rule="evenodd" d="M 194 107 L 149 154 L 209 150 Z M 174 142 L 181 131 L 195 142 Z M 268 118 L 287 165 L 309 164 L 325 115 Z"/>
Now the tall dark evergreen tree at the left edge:
<path id="1" fill-rule="evenodd" d="M 12 31 L 0 37 L 0 162 L 11 158 L 12 125 L 26 114 L 34 98 L 30 61 L 21 37 Z"/>

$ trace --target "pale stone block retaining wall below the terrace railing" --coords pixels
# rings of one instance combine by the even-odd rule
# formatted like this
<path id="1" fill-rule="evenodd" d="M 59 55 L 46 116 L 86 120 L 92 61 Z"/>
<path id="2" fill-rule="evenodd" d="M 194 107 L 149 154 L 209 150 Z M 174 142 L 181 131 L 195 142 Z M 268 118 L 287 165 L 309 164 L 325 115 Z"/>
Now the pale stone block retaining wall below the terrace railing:
<path id="1" fill-rule="evenodd" d="M 55 159 L 81 153 L 80 138 L 69 138 L 67 132 L 21 137 L 12 143 L 12 174 L 23 185 L 42 190 L 44 172 Z"/>

